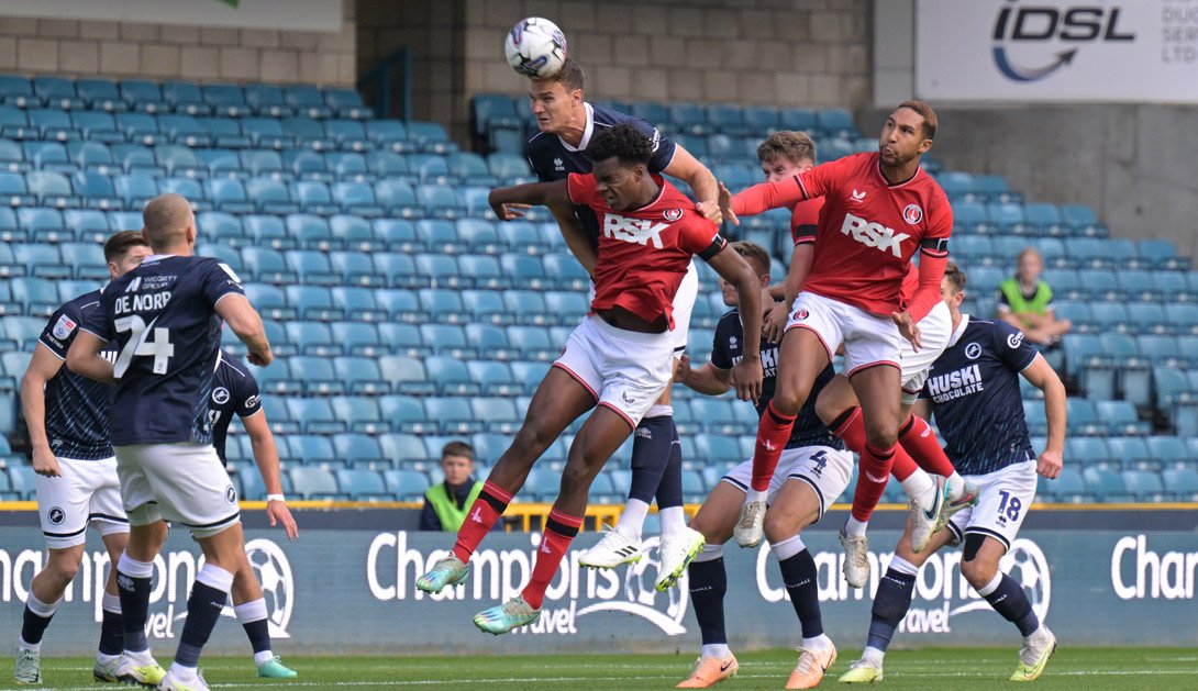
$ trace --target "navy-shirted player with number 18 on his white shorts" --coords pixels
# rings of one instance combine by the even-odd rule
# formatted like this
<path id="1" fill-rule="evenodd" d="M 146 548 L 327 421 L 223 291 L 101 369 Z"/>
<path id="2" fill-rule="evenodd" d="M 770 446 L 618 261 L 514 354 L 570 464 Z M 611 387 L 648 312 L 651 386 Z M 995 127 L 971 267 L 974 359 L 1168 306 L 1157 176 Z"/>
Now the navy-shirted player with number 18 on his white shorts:
<path id="1" fill-rule="evenodd" d="M 882 680 L 882 660 L 910 607 L 919 568 L 940 547 L 962 541 L 961 575 L 1023 636 L 1019 666 L 1011 680 L 1040 677 L 1057 649 L 1057 637 L 1039 620 L 1023 587 L 1002 572 L 998 564 L 1035 499 L 1036 473 L 1048 479 L 1060 474 L 1065 387 L 1018 329 L 1002 321 L 962 315 L 964 286 L 966 274 L 949 262 L 944 299 L 952 314 L 952 337 L 944 354 L 932 364 L 921 395 L 926 400 L 920 404 L 931 404 L 952 465 L 967 479 L 981 484 L 981 497 L 976 507 L 952 516 L 948 531 L 933 534 L 922 552 L 912 548 L 908 526 L 873 595 L 865 653 L 841 675 L 841 681 Z M 1028 440 L 1019 375 L 1045 394 L 1048 441 L 1039 461 Z"/>

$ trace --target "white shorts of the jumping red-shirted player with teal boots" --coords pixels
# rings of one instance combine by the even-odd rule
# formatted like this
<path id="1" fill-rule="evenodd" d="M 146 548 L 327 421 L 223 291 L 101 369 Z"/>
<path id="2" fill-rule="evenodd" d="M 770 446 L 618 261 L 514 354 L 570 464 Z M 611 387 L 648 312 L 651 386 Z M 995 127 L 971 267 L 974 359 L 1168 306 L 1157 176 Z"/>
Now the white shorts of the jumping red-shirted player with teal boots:
<path id="1" fill-rule="evenodd" d="M 635 428 L 673 376 L 673 337 L 616 328 L 587 315 L 553 363 Z"/>

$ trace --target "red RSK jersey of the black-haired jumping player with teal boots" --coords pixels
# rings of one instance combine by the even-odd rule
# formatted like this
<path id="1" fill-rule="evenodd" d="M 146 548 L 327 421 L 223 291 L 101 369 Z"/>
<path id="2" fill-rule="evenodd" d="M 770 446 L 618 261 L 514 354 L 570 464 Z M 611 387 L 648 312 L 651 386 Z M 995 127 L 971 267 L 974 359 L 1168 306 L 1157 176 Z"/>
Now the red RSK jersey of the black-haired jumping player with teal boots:
<path id="1" fill-rule="evenodd" d="M 727 242 L 695 202 L 661 176 L 657 199 L 635 211 L 615 212 L 595 189 L 591 174 L 571 172 L 570 201 L 599 218 L 599 259 L 592 310 L 622 307 L 647 322 L 666 315 L 673 328 L 673 298 L 694 255 L 710 257 Z"/>

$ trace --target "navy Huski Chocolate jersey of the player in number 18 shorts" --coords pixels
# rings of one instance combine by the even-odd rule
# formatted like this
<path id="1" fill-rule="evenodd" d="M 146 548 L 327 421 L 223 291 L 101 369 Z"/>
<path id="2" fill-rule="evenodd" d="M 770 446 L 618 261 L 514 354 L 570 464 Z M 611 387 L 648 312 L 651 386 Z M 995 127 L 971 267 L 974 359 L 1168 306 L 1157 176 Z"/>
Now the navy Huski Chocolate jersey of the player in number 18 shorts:
<path id="1" fill-rule="evenodd" d="M 962 475 L 984 475 L 1035 457 L 1019 372 L 1036 348 L 1006 322 L 961 319 L 920 398 L 932 401 L 952 467 Z"/>

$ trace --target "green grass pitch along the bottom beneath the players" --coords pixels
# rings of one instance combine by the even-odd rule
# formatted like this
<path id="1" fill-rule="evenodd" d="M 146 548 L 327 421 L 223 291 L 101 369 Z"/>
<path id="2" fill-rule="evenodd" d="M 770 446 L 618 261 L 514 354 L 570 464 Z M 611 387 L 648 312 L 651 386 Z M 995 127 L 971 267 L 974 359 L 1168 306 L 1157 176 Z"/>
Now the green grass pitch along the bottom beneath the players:
<path id="1" fill-rule="evenodd" d="M 485 644 L 478 645 L 485 651 Z M 1016 666 L 1011 648 L 925 648 L 887 656 L 884 689 L 1011 689 Z M 821 687 L 842 687 L 836 677 L 857 659 L 842 650 Z M 719 689 L 781 689 L 794 665 L 787 650 L 738 656 L 740 673 Z M 167 661 L 169 657 L 163 656 Z M 691 668 L 690 653 L 678 655 L 549 655 L 504 657 L 303 657 L 286 663 L 300 672 L 290 681 L 258 679 L 246 657 L 206 657 L 201 668 L 213 689 L 672 689 Z M 13 686 L 11 657 L 0 665 L 0 684 Z M 36 689 L 98 691 L 91 660 L 42 662 L 44 681 Z M 1069 648 L 1053 656 L 1034 689 L 1198 689 L 1194 648 Z"/>

